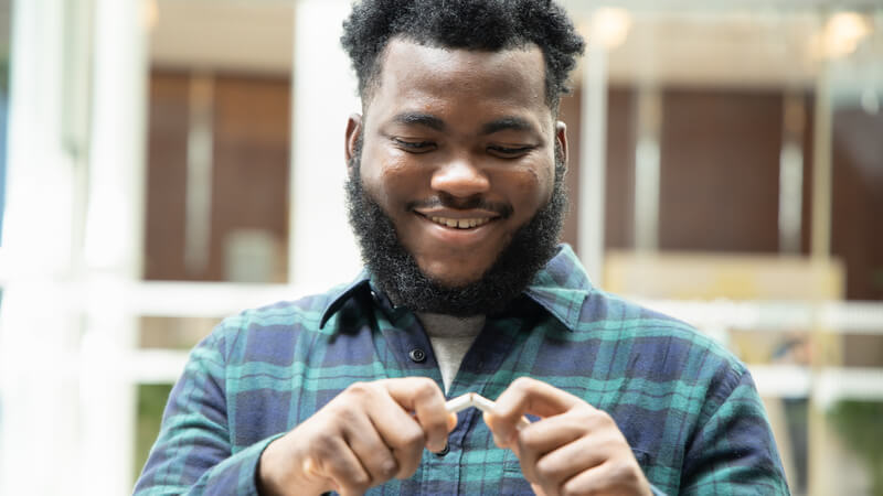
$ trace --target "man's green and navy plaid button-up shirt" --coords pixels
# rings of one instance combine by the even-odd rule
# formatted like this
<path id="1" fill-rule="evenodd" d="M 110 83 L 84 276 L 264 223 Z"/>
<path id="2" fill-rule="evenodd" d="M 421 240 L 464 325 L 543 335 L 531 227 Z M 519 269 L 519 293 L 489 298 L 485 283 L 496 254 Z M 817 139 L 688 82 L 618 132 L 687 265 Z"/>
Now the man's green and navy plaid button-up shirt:
<path id="1" fill-rule="evenodd" d="M 418 320 L 366 273 L 227 319 L 193 349 L 136 493 L 256 494 L 272 440 L 354 381 L 406 376 L 443 387 Z M 593 288 L 567 246 L 509 311 L 488 316 L 448 397 L 497 398 L 521 376 L 613 416 L 658 493 L 788 493 L 745 367 L 689 325 Z M 424 451 L 413 477 L 370 494 L 530 494 L 480 412 L 458 420 L 446 454 Z"/>

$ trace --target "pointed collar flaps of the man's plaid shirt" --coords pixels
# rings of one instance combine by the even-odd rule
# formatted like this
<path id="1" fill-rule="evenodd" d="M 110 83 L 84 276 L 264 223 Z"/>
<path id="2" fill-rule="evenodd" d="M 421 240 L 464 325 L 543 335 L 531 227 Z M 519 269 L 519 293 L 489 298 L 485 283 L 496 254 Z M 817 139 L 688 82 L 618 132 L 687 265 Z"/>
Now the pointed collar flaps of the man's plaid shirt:
<path id="1" fill-rule="evenodd" d="M 536 272 L 524 294 L 568 330 L 574 331 L 579 322 L 583 302 L 593 291 L 593 287 L 570 245 L 558 245 L 557 250 L 557 255 Z M 371 288 L 370 281 L 370 273 L 362 269 L 351 282 L 332 289 L 328 293 L 328 304 L 322 312 L 319 327 L 323 327 L 331 315 L 359 291 L 376 291 Z"/>

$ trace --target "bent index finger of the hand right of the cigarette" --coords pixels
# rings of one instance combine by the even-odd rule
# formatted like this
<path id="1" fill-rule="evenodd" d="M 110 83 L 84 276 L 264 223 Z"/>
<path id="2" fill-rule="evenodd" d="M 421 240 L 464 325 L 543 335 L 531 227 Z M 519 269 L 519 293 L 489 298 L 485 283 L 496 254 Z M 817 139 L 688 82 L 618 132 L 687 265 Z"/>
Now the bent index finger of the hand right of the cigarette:
<path id="1" fill-rule="evenodd" d="M 528 377 L 515 379 L 497 398 L 496 403 L 492 414 L 486 417 L 486 422 L 501 448 L 511 448 L 515 441 L 518 423 L 524 413 L 545 418 L 576 406 L 588 406 L 570 392 Z"/>

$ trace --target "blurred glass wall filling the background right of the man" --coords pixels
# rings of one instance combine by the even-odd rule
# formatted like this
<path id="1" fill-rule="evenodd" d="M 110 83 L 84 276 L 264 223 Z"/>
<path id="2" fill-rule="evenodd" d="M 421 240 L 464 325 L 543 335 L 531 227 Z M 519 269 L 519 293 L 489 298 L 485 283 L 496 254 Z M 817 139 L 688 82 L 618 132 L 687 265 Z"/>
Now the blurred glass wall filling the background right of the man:
<path id="1" fill-rule="evenodd" d="M 565 117 L 604 159 L 572 170 L 565 237 L 749 365 L 795 494 L 883 493 L 883 11 L 568 7 L 591 47 Z"/>

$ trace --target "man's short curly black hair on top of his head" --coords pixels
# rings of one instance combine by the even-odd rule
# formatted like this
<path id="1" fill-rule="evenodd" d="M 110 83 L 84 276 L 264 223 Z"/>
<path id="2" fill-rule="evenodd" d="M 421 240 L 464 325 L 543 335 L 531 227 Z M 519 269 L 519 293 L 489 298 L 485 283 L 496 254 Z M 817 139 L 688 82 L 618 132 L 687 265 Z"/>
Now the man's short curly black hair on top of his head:
<path id="1" fill-rule="evenodd" d="M 359 78 L 363 105 L 380 58 L 396 36 L 451 48 L 500 51 L 538 45 L 545 60 L 545 94 L 557 112 L 567 76 L 585 43 L 564 9 L 551 0 L 363 0 L 343 21 L 340 39 Z"/>

